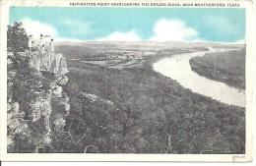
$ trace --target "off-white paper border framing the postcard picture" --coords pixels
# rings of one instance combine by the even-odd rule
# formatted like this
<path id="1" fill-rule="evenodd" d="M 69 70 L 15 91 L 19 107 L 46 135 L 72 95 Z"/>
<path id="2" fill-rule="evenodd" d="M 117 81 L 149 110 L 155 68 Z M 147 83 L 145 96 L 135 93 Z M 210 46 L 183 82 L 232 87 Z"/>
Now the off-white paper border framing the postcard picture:
<path id="1" fill-rule="evenodd" d="M 253 56 L 253 25 L 254 16 L 251 1 L 237 0 L 205 0 L 205 3 L 239 3 L 240 8 L 246 8 L 246 153 L 245 154 L 83 154 L 83 153 L 7 153 L 6 121 L 7 121 L 7 51 L 6 30 L 9 20 L 9 6 L 57 6 L 70 7 L 70 2 L 95 2 L 94 0 L 4 0 L 1 1 L 1 57 L 0 57 L 0 150 L 3 161 L 219 161 L 219 162 L 246 162 L 252 160 L 252 117 L 255 110 L 253 91 L 255 83 L 255 57 Z M 134 0 L 98 0 L 96 2 L 138 2 Z M 177 2 L 175 0 L 143 0 L 142 2 Z M 200 3 L 199 0 L 179 0 L 178 2 Z M 156 7 L 155 7 L 156 8 Z M 166 8 L 166 7 L 164 7 Z M 171 7 L 173 8 L 173 7 Z M 192 7 L 193 8 L 193 7 Z M 205 8 L 205 7 L 204 7 Z M 209 7 L 207 7 L 209 8 Z M 252 35 L 254 34 L 254 35 Z"/>

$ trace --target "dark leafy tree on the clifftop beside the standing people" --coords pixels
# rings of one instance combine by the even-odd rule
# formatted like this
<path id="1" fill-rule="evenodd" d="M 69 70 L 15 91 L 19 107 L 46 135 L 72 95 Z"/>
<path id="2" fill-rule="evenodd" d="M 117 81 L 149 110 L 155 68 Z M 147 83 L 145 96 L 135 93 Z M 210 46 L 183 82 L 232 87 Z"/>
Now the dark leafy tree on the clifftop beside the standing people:
<path id="1" fill-rule="evenodd" d="M 8 26 L 7 30 L 7 48 L 13 52 L 23 51 L 28 48 L 29 36 L 23 24 L 15 23 L 14 26 Z"/>

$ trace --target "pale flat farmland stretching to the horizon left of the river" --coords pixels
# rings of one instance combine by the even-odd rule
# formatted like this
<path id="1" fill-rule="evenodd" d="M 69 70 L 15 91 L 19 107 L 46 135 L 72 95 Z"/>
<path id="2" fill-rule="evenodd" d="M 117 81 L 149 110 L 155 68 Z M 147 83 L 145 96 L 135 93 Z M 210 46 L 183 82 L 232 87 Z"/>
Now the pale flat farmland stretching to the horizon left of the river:
<path id="1" fill-rule="evenodd" d="M 157 59 L 172 56 L 174 54 L 182 54 L 194 51 L 206 51 L 208 48 L 204 46 L 177 47 L 170 45 L 164 47 L 160 45 L 128 45 L 122 43 L 89 43 L 77 45 L 58 45 L 56 52 L 62 53 L 69 60 L 69 63 L 82 65 L 98 65 L 112 69 L 134 68 L 145 65 L 146 60 L 152 65 Z M 151 68 L 151 67 L 150 67 Z"/>

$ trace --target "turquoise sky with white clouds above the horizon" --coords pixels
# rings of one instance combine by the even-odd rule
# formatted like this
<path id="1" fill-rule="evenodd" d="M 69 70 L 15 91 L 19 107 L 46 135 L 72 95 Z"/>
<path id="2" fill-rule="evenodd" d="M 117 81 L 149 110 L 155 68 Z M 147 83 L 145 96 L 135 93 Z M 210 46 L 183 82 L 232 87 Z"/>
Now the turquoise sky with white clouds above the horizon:
<path id="1" fill-rule="evenodd" d="M 11 7 L 9 25 L 70 41 L 243 42 L 242 8 Z"/>

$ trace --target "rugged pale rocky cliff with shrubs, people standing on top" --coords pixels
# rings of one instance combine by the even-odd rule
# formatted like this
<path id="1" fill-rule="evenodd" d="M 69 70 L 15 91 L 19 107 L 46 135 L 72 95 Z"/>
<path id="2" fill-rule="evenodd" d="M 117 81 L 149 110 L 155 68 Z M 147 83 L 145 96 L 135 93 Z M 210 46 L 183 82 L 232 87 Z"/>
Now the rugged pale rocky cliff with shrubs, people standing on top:
<path id="1" fill-rule="evenodd" d="M 47 152 L 70 105 L 66 60 L 54 52 L 8 53 L 8 152 Z"/>

